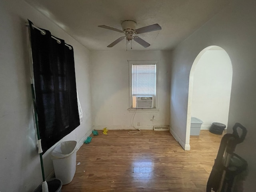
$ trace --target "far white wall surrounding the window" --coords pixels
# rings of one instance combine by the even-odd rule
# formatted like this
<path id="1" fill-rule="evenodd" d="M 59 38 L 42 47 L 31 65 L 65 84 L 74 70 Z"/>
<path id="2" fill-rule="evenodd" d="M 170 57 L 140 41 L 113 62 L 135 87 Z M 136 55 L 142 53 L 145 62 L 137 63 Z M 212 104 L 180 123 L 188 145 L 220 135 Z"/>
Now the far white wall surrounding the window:
<path id="1" fill-rule="evenodd" d="M 128 60 L 158 60 L 158 112 L 136 112 L 134 125 L 152 129 L 169 124 L 170 52 L 164 51 L 94 51 L 92 60 L 92 106 L 96 129 L 132 128 L 129 112 Z M 154 115 L 154 120 L 152 116 Z M 137 126 L 140 122 L 140 126 Z"/>

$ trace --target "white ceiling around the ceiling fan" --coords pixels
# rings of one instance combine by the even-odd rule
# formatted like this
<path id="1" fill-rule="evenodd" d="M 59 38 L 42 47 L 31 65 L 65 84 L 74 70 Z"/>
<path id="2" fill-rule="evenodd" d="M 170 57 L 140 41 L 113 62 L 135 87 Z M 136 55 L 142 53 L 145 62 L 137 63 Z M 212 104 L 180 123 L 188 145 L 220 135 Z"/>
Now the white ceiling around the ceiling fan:
<path id="1" fill-rule="evenodd" d="M 171 50 L 200 28 L 230 0 L 25 0 L 89 50 L 126 50 L 126 41 L 107 46 L 124 36 L 99 28 L 122 30 L 121 22 L 134 20 L 137 28 L 158 23 L 162 30 L 138 34 L 151 44 L 132 43 L 132 50 Z M 33 22 L 33 18 L 29 18 Z M 38 27 L 46 28 L 44 24 Z M 54 34 L 53 34 L 54 35 Z M 67 42 L 68 43 L 68 42 Z M 128 48 L 129 49 L 129 48 Z"/>

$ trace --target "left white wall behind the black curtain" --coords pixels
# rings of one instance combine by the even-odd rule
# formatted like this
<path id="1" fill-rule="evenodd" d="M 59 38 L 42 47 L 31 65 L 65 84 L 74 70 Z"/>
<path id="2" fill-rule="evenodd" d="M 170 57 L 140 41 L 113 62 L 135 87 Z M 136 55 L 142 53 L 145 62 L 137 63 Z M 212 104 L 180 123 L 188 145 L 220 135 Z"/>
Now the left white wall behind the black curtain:
<path id="1" fill-rule="evenodd" d="M 77 90 L 84 122 L 62 140 L 80 141 L 92 128 L 89 51 L 21 0 L 0 1 L 0 191 L 31 192 L 42 182 L 30 90 L 26 19 L 74 46 Z M 91 131 L 90 131 L 91 133 Z M 45 173 L 53 171 L 50 152 Z"/>

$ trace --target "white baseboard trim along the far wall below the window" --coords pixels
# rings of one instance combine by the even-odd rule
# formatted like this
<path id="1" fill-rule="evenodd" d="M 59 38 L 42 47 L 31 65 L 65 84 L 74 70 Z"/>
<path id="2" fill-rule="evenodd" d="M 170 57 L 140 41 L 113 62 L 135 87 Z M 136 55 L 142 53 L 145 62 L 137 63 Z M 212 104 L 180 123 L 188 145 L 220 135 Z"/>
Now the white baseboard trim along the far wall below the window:
<path id="1" fill-rule="evenodd" d="M 132 130 L 132 129 L 140 129 L 140 130 L 153 130 L 153 126 L 168 126 L 168 125 L 137 125 L 126 126 L 126 125 L 94 125 L 93 128 L 95 130 L 102 130 L 105 127 L 108 130 Z"/>

